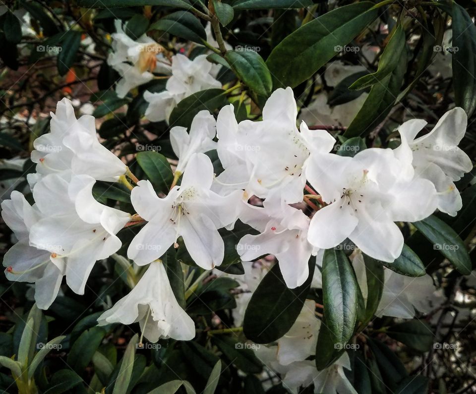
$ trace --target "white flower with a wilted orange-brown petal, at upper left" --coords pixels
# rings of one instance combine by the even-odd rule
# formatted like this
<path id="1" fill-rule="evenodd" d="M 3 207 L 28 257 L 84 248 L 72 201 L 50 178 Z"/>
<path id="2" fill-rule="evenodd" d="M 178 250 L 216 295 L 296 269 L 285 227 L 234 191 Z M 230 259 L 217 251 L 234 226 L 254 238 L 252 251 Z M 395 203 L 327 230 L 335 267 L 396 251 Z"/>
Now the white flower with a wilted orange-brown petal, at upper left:
<path id="1" fill-rule="evenodd" d="M 154 72 L 169 74 L 171 66 L 162 52 L 163 47 L 143 34 L 132 40 L 122 29 L 122 21 L 114 22 L 113 52 L 108 57 L 111 65 L 122 77 L 116 93 L 122 98 L 129 90 L 154 79 Z"/>

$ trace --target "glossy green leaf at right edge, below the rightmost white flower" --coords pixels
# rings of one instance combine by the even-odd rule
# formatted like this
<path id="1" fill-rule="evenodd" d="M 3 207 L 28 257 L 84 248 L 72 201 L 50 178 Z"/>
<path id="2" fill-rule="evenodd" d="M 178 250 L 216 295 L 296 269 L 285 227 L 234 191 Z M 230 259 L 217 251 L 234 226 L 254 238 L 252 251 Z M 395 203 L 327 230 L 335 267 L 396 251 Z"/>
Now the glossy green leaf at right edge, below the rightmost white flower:
<path id="1" fill-rule="evenodd" d="M 458 272 L 463 275 L 471 274 L 470 256 L 464 242 L 453 228 L 434 215 L 413 225 L 433 243 L 434 249 L 453 263 Z"/>

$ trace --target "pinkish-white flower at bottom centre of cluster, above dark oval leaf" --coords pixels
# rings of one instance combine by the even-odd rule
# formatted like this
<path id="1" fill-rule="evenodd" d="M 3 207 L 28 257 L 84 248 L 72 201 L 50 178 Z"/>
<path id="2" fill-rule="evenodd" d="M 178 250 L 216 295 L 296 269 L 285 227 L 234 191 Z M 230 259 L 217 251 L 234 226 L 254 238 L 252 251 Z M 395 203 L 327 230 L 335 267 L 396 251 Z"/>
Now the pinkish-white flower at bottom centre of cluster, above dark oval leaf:
<path id="1" fill-rule="evenodd" d="M 244 235 L 237 250 L 242 260 L 273 254 L 289 288 L 300 286 L 309 276 L 308 261 L 314 247 L 307 241 L 309 218 L 281 200 L 268 198 L 264 208 L 247 205 L 239 215 L 243 223 L 261 232 Z"/>

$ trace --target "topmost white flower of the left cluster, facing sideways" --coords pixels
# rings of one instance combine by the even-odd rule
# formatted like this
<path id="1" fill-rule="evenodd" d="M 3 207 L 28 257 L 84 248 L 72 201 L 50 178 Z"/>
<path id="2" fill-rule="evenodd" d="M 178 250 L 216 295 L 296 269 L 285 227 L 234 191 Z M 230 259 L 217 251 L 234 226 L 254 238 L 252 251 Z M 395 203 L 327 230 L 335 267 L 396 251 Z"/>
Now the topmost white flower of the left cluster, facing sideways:
<path id="1" fill-rule="evenodd" d="M 125 164 L 99 142 L 93 116 L 76 119 L 66 98 L 58 102 L 56 114 L 51 116 L 51 132 L 33 143 L 31 160 L 37 163 L 37 173 L 27 176 L 31 187 L 48 174 L 58 174 L 66 180 L 72 175 L 88 174 L 97 180 L 117 181 L 125 173 Z"/>

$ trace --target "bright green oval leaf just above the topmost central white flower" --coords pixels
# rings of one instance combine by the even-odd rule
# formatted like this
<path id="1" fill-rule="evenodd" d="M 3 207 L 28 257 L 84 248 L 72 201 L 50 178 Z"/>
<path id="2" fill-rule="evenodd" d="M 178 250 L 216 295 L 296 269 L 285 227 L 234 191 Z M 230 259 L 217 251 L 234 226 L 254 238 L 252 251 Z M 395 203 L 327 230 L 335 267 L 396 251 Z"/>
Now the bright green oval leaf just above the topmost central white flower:
<path id="1" fill-rule="evenodd" d="M 269 96 L 273 88 L 273 81 L 263 58 L 254 51 L 228 51 L 225 58 L 251 90 L 260 96 Z"/>

